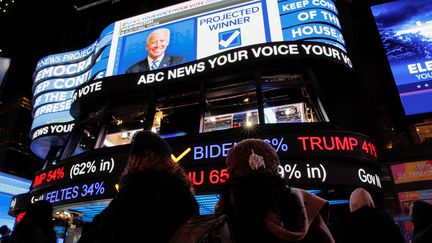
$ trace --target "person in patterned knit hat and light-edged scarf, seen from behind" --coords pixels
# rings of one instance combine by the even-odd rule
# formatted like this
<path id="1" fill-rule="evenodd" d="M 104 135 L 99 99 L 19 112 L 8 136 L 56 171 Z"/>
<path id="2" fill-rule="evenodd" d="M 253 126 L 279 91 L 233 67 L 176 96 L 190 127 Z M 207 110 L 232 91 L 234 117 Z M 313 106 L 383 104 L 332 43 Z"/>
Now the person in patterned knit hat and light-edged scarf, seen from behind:
<path id="1" fill-rule="evenodd" d="M 228 215 L 237 242 L 334 243 L 320 215 L 327 202 L 286 184 L 271 145 L 245 139 L 228 152 L 226 164 L 230 178 L 216 210 Z"/>

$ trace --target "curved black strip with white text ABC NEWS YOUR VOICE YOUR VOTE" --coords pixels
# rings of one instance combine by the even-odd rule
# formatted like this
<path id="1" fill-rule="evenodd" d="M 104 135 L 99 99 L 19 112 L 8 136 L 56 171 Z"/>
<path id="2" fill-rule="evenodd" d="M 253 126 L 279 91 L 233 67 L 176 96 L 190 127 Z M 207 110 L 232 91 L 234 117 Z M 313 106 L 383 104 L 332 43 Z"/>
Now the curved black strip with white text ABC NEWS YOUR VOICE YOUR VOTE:
<path id="1" fill-rule="evenodd" d="M 342 65 L 350 66 L 349 58 L 342 51 L 332 45 L 312 42 L 277 42 L 272 44 L 258 44 L 223 52 L 198 61 L 168 67 L 151 72 L 129 74 L 128 76 L 109 77 L 103 80 L 92 80 L 81 85 L 72 96 L 71 113 L 76 116 L 78 110 L 74 106 L 85 104 L 87 100 L 100 100 L 114 96 L 121 92 L 138 92 L 147 87 L 172 84 L 173 82 L 188 81 L 193 77 L 202 77 L 224 68 L 225 70 L 238 68 L 259 61 L 283 61 L 289 59 L 306 60 L 309 58 L 332 60 Z M 118 85 L 121 82 L 122 85 Z M 87 99 L 87 100 L 86 100 Z M 88 101 L 92 102 L 92 101 Z"/>

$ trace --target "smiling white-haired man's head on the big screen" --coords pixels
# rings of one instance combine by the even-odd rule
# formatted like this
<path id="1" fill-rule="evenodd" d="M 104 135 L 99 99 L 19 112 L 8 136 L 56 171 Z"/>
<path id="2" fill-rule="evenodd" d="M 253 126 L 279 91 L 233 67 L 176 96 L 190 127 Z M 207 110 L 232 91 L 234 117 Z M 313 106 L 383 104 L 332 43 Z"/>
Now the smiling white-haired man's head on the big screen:
<path id="1" fill-rule="evenodd" d="M 152 59 L 157 59 L 165 53 L 170 42 L 170 30 L 156 29 L 150 33 L 146 41 L 146 50 Z"/>

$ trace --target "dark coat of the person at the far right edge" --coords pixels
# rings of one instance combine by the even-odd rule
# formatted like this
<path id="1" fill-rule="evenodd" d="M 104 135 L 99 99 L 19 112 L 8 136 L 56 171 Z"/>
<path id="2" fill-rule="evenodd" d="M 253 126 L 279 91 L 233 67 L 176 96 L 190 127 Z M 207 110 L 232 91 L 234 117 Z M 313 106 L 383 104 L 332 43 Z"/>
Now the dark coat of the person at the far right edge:
<path id="1" fill-rule="evenodd" d="M 432 205 L 424 201 L 415 201 L 412 208 L 414 224 L 413 243 L 432 242 Z"/>

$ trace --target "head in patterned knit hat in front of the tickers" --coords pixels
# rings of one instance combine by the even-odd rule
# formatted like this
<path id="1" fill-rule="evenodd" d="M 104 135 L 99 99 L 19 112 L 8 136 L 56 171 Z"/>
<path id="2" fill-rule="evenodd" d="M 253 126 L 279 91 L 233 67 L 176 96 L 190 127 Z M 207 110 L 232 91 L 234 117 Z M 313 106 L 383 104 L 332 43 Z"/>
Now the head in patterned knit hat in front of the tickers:
<path id="1" fill-rule="evenodd" d="M 280 165 L 276 150 L 261 139 L 245 139 L 232 147 L 226 158 L 230 175 L 276 175 Z"/>

